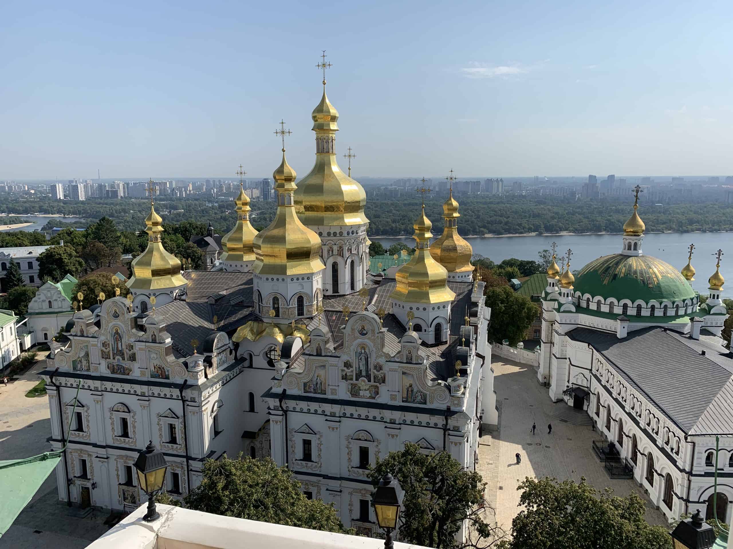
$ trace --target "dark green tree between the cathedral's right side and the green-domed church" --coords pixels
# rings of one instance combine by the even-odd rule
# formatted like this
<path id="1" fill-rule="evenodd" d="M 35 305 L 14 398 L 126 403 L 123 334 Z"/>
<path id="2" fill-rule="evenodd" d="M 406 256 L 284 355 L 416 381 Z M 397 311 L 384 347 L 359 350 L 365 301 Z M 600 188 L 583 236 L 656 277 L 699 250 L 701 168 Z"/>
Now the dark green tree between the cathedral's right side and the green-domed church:
<path id="1" fill-rule="evenodd" d="M 537 305 L 509 286 L 490 288 L 486 292 L 486 306 L 491 307 L 489 340 L 500 342 L 506 339 L 512 346 L 524 337 L 525 330 L 539 315 Z"/>

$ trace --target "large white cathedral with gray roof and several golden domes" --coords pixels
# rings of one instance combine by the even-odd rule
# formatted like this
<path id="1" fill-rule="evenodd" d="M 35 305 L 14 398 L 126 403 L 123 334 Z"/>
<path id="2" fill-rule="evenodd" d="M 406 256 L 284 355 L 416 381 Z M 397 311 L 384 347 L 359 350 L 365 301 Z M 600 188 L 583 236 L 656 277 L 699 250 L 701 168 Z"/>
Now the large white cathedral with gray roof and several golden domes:
<path id="1" fill-rule="evenodd" d="M 56 468 L 63 501 L 139 505 L 133 463 L 152 440 L 169 462 L 169 493 L 198 485 L 207 459 L 271 457 L 369 534 L 377 458 L 410 441 L 475 467 L 481 425 L 497 423 L 496 394 L 490 310 L 455 231 L 458 205 L 443 206 L 446 230 L 432 247 L 419 215 L 416 254 L 396 275 L 369 272 L 366 196 L 336 163 L 325 82 L 312 119 L 313 170 L 296 186 L 283 146 L 278 210 L 259 233 L 240 193 L 222 270 L 181 272 L 151 206 L 132 299 L 74 313 L 65 340 L 51 343 L 41 375 L 51 444 L 69 438 Z"/>

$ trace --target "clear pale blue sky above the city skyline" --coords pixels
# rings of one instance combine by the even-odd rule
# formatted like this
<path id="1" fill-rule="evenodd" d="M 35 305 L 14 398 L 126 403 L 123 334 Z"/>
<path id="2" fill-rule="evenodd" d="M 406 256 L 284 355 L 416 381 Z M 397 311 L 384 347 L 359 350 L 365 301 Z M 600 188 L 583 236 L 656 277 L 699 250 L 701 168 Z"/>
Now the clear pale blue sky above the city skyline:
<path id="1" fill-rule="evenodd" d="M 5 0 L 0 179 L 266 176 L 281 118 L 304 176 L 322 49 L 357 179 L 726 175 L 731 20 L 730 1 Z"/>

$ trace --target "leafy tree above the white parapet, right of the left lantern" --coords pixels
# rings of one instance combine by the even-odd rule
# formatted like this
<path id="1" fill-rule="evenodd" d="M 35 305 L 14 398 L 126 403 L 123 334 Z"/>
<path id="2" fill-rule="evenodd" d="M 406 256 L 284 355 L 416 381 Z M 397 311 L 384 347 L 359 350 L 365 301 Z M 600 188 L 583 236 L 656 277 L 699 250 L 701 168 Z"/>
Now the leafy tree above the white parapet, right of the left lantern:
<path id="1" fill-rule="evenodd" d="M 206 460 L 201 484 L 185 496 L 185 507 L 227 517 L 260 520 L 311 530 L 353 534 L 345 530 L 334 504 L 308 499 L 287 468 L 270 458 Z"/>

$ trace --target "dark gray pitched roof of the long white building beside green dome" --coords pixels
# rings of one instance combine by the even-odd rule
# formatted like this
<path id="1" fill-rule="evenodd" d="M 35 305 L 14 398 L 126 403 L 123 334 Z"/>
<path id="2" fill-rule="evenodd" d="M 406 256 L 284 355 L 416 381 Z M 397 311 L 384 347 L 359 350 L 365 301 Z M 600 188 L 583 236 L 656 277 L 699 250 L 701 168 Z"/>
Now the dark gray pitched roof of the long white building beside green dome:
<path id="1" fill-rule="evenodd" d="M 733 361 L 725 348 L 660 327 L 636 330 L 624 339 L 589 328 L 575 328 L 568 336 L 603 355 L 685 433 L 713 427 L 733 432 Z"/>

